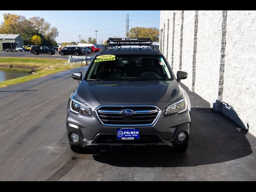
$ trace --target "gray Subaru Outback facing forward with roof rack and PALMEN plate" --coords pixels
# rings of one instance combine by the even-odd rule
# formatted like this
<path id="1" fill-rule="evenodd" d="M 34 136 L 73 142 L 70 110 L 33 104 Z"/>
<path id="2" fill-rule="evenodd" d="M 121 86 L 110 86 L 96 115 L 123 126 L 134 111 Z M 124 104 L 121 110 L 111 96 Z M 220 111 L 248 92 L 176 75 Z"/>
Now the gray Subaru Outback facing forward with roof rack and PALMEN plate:
<path id="1" fill-rule="evenodd" d="M 157 146 L 185 151 L 190 101 L 158 46 L 149 38 L 109 38 L 68 101 L 68 140 L 74 152 L 86 148 Z"/>

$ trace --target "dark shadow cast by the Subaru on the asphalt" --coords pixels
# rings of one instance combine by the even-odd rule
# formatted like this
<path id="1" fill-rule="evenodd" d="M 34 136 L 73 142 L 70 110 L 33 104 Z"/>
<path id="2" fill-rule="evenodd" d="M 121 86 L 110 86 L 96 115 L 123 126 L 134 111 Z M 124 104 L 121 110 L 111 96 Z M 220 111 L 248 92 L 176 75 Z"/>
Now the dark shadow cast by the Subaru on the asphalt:
<path id="1" fill-rule="evenodd" d="M 184 86 L 182 86 L 184 87 Z M 184 88 L 191 102 L 190 144 L 186 152 L 166 149 L 120 149 L 94 154 L 94 160 L 122 167 L 180 167 L 226 162 L 252 153 L 247 132 Z"/>

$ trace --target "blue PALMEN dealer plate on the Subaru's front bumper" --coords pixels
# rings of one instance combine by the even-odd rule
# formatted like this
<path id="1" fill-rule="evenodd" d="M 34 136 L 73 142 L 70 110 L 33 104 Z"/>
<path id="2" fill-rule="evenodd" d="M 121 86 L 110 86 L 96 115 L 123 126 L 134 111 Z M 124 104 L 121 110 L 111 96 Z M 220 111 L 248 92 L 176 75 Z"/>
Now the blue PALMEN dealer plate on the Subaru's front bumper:
<path id="1" fill-rule="evenodd" d="M 116 140 L 139 140 L 139 128 L 116 128 Z"/>

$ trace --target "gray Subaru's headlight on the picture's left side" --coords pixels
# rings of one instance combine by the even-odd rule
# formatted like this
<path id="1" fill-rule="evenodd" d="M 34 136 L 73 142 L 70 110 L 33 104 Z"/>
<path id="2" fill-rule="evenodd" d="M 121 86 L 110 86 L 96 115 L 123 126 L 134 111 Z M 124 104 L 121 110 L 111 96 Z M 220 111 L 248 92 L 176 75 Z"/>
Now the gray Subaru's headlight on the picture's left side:
<path id="1" fill-rule="evenodd" d="M 92 115 L 92 110 L 86 104 L 80 102 L 74 95 L 70 100 L 70 110 L 76 114 Z"/>

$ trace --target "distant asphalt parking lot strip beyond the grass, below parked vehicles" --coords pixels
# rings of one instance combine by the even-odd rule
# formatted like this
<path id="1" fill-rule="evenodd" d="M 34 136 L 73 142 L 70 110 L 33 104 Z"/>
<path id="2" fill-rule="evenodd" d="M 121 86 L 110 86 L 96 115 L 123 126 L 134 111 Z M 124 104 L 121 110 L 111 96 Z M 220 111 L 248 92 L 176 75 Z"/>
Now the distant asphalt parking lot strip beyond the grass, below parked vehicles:
<path id="1" fill-rule="evenodd" d="M 95 53 L 92 52 L 90 54 L 85 54 L 83 56 L 94 56 Z M 53 59 L 64 59 L 68 60 L 68 55 L 61 56 L 56 52 L 54 55 L 48 55 L 48 54 L 39 54 L 34 55 L 30 52 L 0 52 L 0 57 L 37 57 L 37 58 L 53 58 Z"/>

